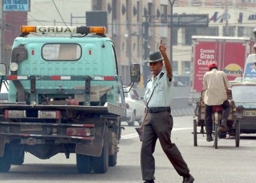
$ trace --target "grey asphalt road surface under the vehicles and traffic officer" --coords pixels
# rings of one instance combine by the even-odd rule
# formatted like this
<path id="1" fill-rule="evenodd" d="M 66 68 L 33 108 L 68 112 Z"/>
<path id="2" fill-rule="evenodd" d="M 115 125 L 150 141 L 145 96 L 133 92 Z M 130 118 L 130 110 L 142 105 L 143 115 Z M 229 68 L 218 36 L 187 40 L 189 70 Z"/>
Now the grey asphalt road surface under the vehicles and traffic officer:
<path id="1" fill-rule="evenodd" d="M 192 116 L 174 117 L 172 142 L 176 143 L 182 156 L 189 165 L 195 182 L 201 183 L 254 183 L 256 172 L 256 135 L 241 135 L 240 146 L 235 147 L 235 139 L 228 137 L 219 140 L 218 149 L 208 143 L 205 136 L 198 135 L 198 145 L 193 146 Z M 136 124 L 138 125 L 138 124 Z M 77 173 L 75 155 L 65 159 L 57 155 L 48 160 L 37 159 L 29 153 L 25 155 L 25 163 L 11 166 L 8 173 L 0 174 L 1 182 L 87 182 L 87 183 L 139 183 L 141 180 L 139 167 L 139 150 L 141 143 L 134 127 L 124 123 L 120 152 L 115 167 L 110 167 L 106 174 Z M 156 159 L 156 182 L 182 182 L 159 143 L 154 153 Z"/>

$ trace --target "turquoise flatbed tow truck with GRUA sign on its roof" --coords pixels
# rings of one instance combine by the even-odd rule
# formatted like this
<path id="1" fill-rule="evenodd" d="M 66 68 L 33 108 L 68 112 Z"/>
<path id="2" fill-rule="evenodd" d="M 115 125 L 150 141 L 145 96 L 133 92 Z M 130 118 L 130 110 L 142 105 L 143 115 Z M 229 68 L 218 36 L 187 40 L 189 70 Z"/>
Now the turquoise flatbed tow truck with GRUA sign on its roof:
<path id="1" fill-rule="evenodd" d="M 10 65 L 0 64 L 0 85 L 9 84 L 8 101 L 0 104 L 0 172 L 22 165 L 25 152 L 39 159 L 75 153 L 80 173 L 117 164 L 126 107 L 120 62 L 105 33 L 105 27 L 21 26 Z M 130 71 L 139 82 L 139 65 Z"/>

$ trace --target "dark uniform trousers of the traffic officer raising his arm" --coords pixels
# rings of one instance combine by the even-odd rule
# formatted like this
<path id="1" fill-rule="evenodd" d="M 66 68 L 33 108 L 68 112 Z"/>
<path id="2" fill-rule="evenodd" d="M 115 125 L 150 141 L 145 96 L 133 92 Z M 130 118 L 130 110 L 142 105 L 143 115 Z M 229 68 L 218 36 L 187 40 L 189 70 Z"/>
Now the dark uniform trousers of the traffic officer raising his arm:
<path id="1" fill-rule="evenodd" d="M 172 116 L 168 111 L 148 114 L 143 127 L 143 144 L 140 154 L 140 165 L 143 180 L 154 180 L 155 159 L 153 152 L 156 147 L 156 140 L 162 146 L 169 161 L 176 172 L 184 176 L 189 174 L 188 165 L 182 158 L 177 146 L 171 141 L 171 131 L 173 126 Z"/>

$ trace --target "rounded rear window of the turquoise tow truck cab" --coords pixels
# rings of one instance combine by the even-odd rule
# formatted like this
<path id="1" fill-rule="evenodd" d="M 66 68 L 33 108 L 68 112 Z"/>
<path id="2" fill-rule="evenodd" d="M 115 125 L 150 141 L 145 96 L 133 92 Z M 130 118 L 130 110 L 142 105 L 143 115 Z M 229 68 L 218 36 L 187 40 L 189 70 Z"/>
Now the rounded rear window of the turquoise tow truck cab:
<path id="1" fill-rule="evenodd" d="M 42 47 L 42 57 L 47 61 L 76 61 L 82 52 L 78 44 L 51 43 Z"/>

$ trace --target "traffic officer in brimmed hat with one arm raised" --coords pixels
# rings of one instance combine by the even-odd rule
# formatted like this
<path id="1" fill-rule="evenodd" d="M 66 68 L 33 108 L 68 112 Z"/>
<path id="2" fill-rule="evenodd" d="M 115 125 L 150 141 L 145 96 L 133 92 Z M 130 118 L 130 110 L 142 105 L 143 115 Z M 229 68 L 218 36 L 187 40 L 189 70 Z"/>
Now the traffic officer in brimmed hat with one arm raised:
<path id="1" fill-rule="evenodd" d="M 163 62 L 166 72 L 162 70 Z M 159 45 L 159 51 L 149 53 L 149 68 L 153 74 L 152 79 L 146 85 L 144 99 L 147 101 L 147 114 L 143 122 L 143 143 L 140 154 L 140 165 L 144 183 L 155 182 L 155 159 L 153 152 L 156 140 L 162 146 L 169 161 L 184 183 L 193 182 L 195 179 L 190 175 L 189 168 L 175 143 L 171 141 L 173 120 L 171 115 L 172 101 L 172 66 L 166 55 L 166 47 Z"/>

